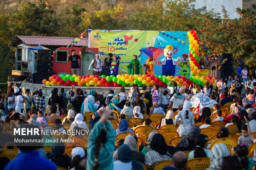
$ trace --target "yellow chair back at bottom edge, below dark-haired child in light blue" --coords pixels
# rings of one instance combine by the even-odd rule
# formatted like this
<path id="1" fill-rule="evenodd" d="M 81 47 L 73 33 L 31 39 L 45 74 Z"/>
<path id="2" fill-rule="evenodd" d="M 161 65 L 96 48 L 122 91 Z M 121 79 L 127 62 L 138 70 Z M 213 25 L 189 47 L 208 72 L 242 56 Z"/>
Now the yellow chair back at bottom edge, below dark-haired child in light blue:
<path id="1" fill-rule="evenodd" d="M 195 158 L 187 161 L 187 170 L 205 170 L 211 165 L 210 158 Z"/>

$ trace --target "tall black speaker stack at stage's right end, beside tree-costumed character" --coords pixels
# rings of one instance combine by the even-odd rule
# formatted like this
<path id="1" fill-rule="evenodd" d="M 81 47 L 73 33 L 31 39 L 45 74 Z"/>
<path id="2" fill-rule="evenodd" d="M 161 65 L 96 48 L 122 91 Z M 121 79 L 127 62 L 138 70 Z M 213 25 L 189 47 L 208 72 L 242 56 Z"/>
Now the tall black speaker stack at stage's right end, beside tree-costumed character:
<path id="1" fill-rule="evenodd" d="M 234 68 L 233 68 L 233 54 L 222 53 L 220 57 L 227 58 L 228 60 L 222 65 L 222 77 L 223 79 L 228 78 L 230 75 L 234 76 Z"/>

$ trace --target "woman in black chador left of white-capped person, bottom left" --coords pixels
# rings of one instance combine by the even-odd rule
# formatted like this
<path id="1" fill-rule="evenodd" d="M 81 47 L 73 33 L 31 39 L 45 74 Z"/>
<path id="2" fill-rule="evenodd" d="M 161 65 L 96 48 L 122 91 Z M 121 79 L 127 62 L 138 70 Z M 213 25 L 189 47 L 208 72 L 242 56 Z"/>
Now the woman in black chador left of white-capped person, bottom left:
<path id="1" fill-rule="evenodd" d="M 50 161 L 54 162 L 57 166 L 68 169 L 71 167 L 71 158 L 68 155 L 64 155 L 65 147 L 64 143 L 54 143 L 52 147 L 52 151 L 47 153 L 46 156 Z"/>

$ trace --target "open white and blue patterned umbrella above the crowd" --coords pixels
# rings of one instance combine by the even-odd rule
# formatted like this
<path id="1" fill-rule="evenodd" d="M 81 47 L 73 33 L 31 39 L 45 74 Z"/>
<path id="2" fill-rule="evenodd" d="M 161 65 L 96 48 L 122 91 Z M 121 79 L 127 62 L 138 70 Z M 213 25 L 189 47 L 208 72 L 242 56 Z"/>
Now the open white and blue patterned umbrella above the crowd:
<path id="1" fill-rule="evenodd" d="M 190 99 L 191 107 L 197 107 L 200 103 L 202 108 L 211 105 L 213 101 L 204 93 L 197 93 Z"/>

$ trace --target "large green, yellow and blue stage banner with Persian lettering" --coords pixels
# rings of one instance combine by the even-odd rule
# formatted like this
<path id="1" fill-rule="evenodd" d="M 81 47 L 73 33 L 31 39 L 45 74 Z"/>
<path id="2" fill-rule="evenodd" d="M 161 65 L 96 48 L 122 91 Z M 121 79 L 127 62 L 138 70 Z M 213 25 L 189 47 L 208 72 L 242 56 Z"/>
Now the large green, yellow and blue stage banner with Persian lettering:
<path id="1" fill-rule="evenodd" d="M 189 54 L 189 43 L 185 31 L 143 31 L 143 30 L 88 30 L 89 47 L 98 48 L 100 59 L 109 53 L 121 57 L 119 74 L 126 74 L 128 65 L 133 55 L 139 56 L 140 63 L 146 63 L 148 56 L 153 56 L 155 61 L 155 75 L 161 75 L 162 65 L 159 63 L 164 58 L 164 48 L 172 45 L 173 59 L 181 58 L 182 54 Z M 180 75 L 179 62 L 175 63 L 175 76 Z"/>

